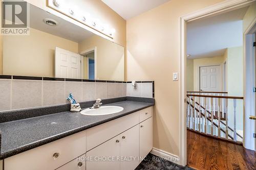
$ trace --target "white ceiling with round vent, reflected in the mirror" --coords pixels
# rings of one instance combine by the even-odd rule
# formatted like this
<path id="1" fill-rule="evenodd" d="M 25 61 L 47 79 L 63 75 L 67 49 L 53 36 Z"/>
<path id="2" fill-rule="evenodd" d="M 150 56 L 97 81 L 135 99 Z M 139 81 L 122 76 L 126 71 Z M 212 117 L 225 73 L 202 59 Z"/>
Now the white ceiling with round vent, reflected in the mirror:
<path id="1" fill-rule="evenodd" d="M 57 21 L 57 26 L 47 25 L 43 21 L 45 18 Z M 75 42 L 83 41 L 84 39 L 94 35 L 93 33 L 66 21 L 65 19 L 50 14 L 33 5 L 30 5 L 30 27 Z"/>

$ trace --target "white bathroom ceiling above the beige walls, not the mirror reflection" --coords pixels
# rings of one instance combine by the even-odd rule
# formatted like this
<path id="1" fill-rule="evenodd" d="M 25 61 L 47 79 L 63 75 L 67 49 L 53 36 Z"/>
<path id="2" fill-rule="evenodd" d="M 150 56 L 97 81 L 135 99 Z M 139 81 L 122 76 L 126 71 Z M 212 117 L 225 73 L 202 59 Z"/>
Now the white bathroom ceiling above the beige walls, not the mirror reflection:
<path id="1" fill-rule="evenodd" d="M 125 20 L 164 4 L 170 0 L 101 0 Z"/>

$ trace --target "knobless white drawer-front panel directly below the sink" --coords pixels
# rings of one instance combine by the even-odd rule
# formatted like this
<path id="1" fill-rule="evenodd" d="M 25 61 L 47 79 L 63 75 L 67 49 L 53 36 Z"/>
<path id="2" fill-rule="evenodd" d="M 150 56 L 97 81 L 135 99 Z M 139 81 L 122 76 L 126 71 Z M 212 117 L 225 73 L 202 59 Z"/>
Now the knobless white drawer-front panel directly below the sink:
<path id="1" fill-rule="evenodd" d="M 139 113 L 135 112 L 88 129 L 87 151 L 137 124 L 139 124 Z"/>

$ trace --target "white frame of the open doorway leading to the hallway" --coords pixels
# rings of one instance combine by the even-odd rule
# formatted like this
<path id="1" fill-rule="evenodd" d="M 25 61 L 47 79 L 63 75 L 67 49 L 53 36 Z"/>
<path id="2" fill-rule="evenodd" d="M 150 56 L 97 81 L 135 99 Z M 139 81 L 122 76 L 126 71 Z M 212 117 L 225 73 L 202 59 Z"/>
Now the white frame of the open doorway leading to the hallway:
<path id="1" fill-rule="evenodd" d="M 230 0 L 206 7 L 190 14 L 180 16 L 179 25 L 179 158 L 180 164 L 187 164 L 187 134 L 186 134 L 186 22 L 203 17 L 232 11 L 245 7 L 255 0 Z"/>

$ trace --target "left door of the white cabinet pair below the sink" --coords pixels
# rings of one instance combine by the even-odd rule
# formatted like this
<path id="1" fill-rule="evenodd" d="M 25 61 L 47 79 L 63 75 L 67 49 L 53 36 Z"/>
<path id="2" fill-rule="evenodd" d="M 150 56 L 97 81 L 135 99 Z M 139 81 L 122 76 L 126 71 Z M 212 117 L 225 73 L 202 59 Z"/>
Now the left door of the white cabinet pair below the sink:
<path id="1" fill-rule="evenodd" d="M 120 135 L 98 145 L 98 147 L 86 153 L 87 170 L 118 170 L 120 161 L 117 158 L 120 155 Z"/>

